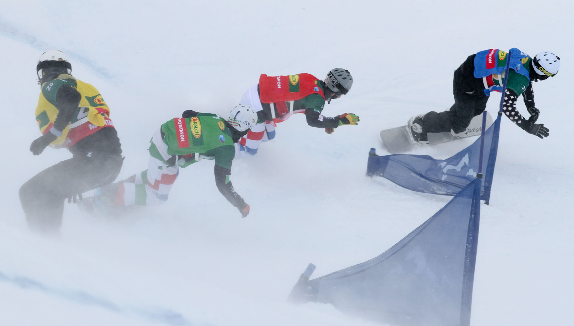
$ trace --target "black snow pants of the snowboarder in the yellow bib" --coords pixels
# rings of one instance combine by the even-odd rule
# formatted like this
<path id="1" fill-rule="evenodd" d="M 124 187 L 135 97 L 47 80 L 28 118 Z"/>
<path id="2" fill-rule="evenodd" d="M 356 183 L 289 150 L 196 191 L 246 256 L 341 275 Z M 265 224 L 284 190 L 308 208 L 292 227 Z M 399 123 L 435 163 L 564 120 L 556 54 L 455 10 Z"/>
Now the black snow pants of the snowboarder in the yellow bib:
<path id="1" fill-rule="evenodd" d="M 36 174 L 20 188 L 31 230 L 59 232 L 66 198 L 112 183 L 122 168 L 120 154 L 74 155 Z"/>

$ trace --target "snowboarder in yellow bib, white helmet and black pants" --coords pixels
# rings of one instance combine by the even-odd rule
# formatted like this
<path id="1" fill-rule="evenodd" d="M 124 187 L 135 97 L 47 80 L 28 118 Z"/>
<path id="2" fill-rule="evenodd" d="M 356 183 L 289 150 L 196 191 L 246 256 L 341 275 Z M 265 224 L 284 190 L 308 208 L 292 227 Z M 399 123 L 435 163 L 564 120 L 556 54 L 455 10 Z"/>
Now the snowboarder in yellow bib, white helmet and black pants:
<path id="1" fill-rule="evenodd" d="M 42 53 L 36 67 L 41 85 L 36 122 L 42 135 L 30 151 L 67 148 L 72 158 L 36 174 L 20 188 L 20 201 L 33 230 L 59 232 L 64 199 L 112 183 L 122 167 L 122 149 L 110 108 L 94 86 L 71 75 L 61 51 Z"/>

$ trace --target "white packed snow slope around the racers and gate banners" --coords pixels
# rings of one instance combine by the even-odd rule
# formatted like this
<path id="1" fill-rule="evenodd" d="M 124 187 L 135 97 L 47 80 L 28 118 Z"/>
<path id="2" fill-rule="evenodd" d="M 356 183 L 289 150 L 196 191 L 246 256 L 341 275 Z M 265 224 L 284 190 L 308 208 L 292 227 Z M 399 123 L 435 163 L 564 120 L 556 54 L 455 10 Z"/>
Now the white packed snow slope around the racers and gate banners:
<path id="1" fill-rule="evenodd" d="M 571 321 L 573 5 L 567 1 L 14 1 L 2 4 L 4 103 L 0 324 L 371 325 L 331 305 L 285 299 L 309 262 L 314 277 L 382 253 L 451 197 L 364 176 L 378 133 L 447 110 L 468 55 L 553 51 L 560 73 L 534 84 L 539 139 L 503 117 L 490 205 L 482 205 L 472 325 Z M 169 201 L 121 220 L 66 205 L 60 238 L 31 234 L 18 189 L 70 157 L 32 156 L 37 57 L 61 49 L 73 75 L 111 108 L 126 156 L 146 169 L 161 123 L 193 109 L 226 114 L 259 74 L 349 69 L 352 90 L 324 114 L 358 126 L 328 135 L 294 115 L 255 157 L 238 158 L 239 212 L 217 191 L 211 161 L 180 171 Z M 498 111 L 499 95 L 487 110 Z M 519 110 L 526 113 L 522 103 Z M 449 157 L 474 139 L 413 153 Z M 55 183 L 58 180 L 54 180 Z"/>

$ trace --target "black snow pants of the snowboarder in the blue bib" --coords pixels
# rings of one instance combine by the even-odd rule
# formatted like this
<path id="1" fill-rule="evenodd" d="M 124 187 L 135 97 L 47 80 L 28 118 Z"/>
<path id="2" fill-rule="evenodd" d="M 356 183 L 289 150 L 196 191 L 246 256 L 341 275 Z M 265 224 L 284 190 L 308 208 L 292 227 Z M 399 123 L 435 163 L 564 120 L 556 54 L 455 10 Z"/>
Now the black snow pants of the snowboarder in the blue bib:
<path id="1" fill-rule="evenodd" d="M 471 55 L 455 70 L 453 94 L 455 104 L 448 111 L 430 111 L 422 119 L 424 133 L 441 133 L 454 130 L 460 133 L 470 125 L 476 115 L 486 108 L 488 96 L 484 94 L 482 79 L 474 77 L 474 57 Z"/>

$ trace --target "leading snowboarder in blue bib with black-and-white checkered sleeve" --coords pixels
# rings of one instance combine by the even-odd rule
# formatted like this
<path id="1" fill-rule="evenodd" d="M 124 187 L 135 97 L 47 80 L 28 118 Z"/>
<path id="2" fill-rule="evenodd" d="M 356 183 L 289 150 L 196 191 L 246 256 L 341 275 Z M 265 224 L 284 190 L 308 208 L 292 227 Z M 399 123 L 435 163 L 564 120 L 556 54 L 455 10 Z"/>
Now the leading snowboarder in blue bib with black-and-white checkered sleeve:
<path id="1" fill-rule="evenodd" d="M 548 137 L 548 128 L 534 123 L 540 111 L 534 106 L 532 81 L 545 80 L 558 73 L 560 58 L 552 52 L 540 52 L 534 59 L 517 48 L 510 49 L 510 69 L 504 94 L 503 112 L 526 132 L 540 138 Z M 418 145 L 428 145 L 427 133 L 450 132 L 461 138 L 467 126 L 486 108 L 490 92 L 501 92 L 504 84 L 507 52 L 488 49 L 471 55 L 455 71 L 453 94 L 455 104 L 444 112 L 430 111 L 410 118 L 406 126 L 410 140 Z M 516 108 L 521 95 L 530 117 L 522 117 Z"/>

